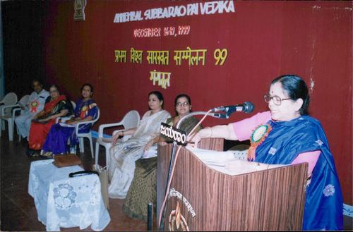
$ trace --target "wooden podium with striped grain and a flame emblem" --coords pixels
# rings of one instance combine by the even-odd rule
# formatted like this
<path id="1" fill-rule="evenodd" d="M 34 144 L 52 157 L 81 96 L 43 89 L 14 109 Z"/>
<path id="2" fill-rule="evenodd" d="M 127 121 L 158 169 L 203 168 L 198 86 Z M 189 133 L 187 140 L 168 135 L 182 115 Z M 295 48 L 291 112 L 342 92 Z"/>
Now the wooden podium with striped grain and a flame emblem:
<path id="1" fill-rule="evenodd" d="M 222 151 L 223 140 L 203 140 L 200 147 Z M 158 147 L 157 219 L 171 150 L 172 145 Z M 307 169 L 304 163 L 229 176 L 182 147 L 170 185 L 164 230 L 300 231 Z"/>

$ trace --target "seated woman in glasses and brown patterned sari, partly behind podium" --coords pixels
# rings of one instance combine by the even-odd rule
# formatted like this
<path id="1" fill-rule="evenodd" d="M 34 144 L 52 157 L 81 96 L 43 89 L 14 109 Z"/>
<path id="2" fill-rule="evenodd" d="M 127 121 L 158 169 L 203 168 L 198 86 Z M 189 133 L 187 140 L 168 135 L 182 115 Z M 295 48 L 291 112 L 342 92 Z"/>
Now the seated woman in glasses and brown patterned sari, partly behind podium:
<path id="1" fill-rule="evenodd" d="M 176 116 L 167 119 L 167 124 L 170 126 L 177 126 L 180 118 L 189 114 L 191 111 L 191 99 L 189 95 L 179 94 L 175 98 L 174 106 Z M 197 123 L 197 118 L 186 118 L 181 123 L 180 129 L 184 130 L 186 134 L 189 135 Z M 201 126 L 198 126 L 196 132 L 200 129 Z M 159 136 L 155 141 L 158 141 L 160 145 L 166 145 L 167 142 L 172 142 L 169 138 L 165 138 L 164 135 Z M 154 209 L 157 209 L 157 157 L 138 159 L 135 164 L 135 175 L 133 176 L 133 181 L 126 195 L 123 212 L 132 218 L 147 221 L 148 203 L 151 202 L 154 205 Z"/>

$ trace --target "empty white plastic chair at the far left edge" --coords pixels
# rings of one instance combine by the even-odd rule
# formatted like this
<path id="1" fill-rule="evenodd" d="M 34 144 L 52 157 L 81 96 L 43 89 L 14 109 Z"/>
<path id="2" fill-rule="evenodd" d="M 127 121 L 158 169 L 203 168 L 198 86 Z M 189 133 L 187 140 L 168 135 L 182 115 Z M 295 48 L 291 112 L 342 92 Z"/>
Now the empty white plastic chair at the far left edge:
<path id="1" fill-rule="evenodd" d="M 17 95 L 14 92 L 9 92 L 8 94 L 5 95 L 5 97 L 1 100 L 0 102 L 0 136 L 1 136 L 1 130 L 5 130 L 5 121 L 8 122 L 8 139 L 11 139 L 12 135 L 12 140 L 13 140 L 13 127 L 11 127 L 11 117 L 12 117 L 12 109 L 16 106 L 17 104 Z M 10 141 L 12 141 L 10 140 Z"/>

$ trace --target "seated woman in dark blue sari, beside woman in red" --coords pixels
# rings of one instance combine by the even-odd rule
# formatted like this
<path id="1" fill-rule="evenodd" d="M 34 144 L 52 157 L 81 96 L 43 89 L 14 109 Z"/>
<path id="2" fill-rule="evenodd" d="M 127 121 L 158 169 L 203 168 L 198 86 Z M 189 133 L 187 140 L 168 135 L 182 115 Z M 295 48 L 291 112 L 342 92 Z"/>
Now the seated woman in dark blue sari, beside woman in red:
<path id="1" fill-rule="evenodd" d="M 49 131 L 47 139 L 42 147 L 41 154 L 50 157 L 52 154 L 66 154 L 69 152 L 68 142 L 73 150 L 76 149 L 78 140 L 76 138 L 75 127 L 70 126 L 78 122 L 91 121 L 97 116 L 97 104 L 92 99 L 93 87 L 86 83 L 81 87 L 82 98 L 76 102 L 74 116 L 65 123 L 56 123 Z M 61 126 L 63 125 L 63 126 Z M 80 133 L 90 131 L 91 124 L 81 125 Z M 68 141 L 69 140 L 69 141 Z"/>

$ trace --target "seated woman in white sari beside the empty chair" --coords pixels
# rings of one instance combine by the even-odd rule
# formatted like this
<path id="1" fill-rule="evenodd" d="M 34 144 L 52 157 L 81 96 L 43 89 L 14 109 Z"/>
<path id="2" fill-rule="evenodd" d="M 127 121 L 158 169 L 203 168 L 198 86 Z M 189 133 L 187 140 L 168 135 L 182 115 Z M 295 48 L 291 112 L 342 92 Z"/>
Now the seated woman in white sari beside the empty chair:
<path id="1" fill-rule="evenodd" d="M 170 114 L 163 109 L 163 95 L 158 92 L 148 94 L 147 111 L 137 128 L 120 131 L 112 139 L 112 145 L 109 155 L 109 197 L 126 197 L 128 188 L 133 180 L 133 171 L 135 170 L 135 161 L 140 159 L 148 144 L 157 138 L 160 131 L 160 124 L 164 122 Z M 125 142 L 118 140 L 119 136 L 132 135 Z M 147 146 L 147 147 L 146 147 Z"/>

